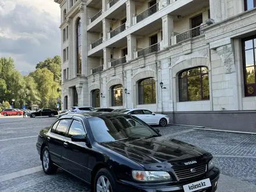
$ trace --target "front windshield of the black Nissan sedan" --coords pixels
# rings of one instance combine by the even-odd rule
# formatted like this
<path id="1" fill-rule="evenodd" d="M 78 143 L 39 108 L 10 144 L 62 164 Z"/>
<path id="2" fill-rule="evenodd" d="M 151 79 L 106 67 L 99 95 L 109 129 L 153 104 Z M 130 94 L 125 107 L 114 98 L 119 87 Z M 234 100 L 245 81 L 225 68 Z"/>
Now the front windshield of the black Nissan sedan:
<path id="1" fill-rule="evenodd" d="M 88 118 L 98 143 L 155 137 L 159 134 L 146 123 L 130 115 L 105 115 Z"/>

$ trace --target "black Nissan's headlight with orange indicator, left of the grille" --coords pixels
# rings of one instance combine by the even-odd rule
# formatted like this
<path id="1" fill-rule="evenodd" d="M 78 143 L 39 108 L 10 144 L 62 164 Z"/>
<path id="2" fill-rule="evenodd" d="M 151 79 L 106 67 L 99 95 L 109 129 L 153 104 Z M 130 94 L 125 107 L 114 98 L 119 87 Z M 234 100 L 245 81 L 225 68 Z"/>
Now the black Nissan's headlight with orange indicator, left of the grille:
<path id="1" fill-rule="evenodd" d="M 133 170 L 133 179 L 140 182 L 157 182 L 161 180 L 170 180 L 171 177 L 168 172 L 165 171 L 143 171 L 143 170 Z"/>

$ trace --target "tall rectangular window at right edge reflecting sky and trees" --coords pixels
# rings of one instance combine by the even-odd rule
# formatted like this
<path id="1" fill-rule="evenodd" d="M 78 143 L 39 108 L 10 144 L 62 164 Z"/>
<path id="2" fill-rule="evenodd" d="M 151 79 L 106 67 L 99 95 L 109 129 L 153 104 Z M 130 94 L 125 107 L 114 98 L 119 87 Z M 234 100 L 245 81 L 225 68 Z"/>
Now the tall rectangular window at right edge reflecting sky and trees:
<path id="1" fill-rule="evenodd" d="M 244 38 L 243 44 L 243 72 L 244 96 L 256 96 L 256 35 Z"/>

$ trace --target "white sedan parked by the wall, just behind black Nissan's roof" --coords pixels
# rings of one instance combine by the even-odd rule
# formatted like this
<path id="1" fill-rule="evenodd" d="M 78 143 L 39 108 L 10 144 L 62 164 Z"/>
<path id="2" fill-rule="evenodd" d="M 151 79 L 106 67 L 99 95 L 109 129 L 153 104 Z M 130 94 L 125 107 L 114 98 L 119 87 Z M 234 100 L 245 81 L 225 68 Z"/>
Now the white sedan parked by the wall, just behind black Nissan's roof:
<path id="1" fill-rule="evenodd" d="M 148 109 L 125 109 L 120 111 L 120 113 L 126 113 L 129 115 L 134 115 L 138 119 L 143 120 L 148 125 L 159 125 L 165 127 L 169 123 L 169 116 L 156 114 Z"/>

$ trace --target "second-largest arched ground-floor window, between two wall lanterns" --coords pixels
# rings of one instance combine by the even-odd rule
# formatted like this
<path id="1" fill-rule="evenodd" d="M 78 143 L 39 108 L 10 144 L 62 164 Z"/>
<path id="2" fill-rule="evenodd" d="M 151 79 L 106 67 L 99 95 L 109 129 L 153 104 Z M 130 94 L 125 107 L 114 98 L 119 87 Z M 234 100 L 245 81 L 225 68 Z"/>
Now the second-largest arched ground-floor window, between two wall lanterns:
<path id="1" fill-rule="evenodd" d="M 155 80 L 153 78 L 143 79 L 138 82 L 138 104 L 155 104 Z"/>

